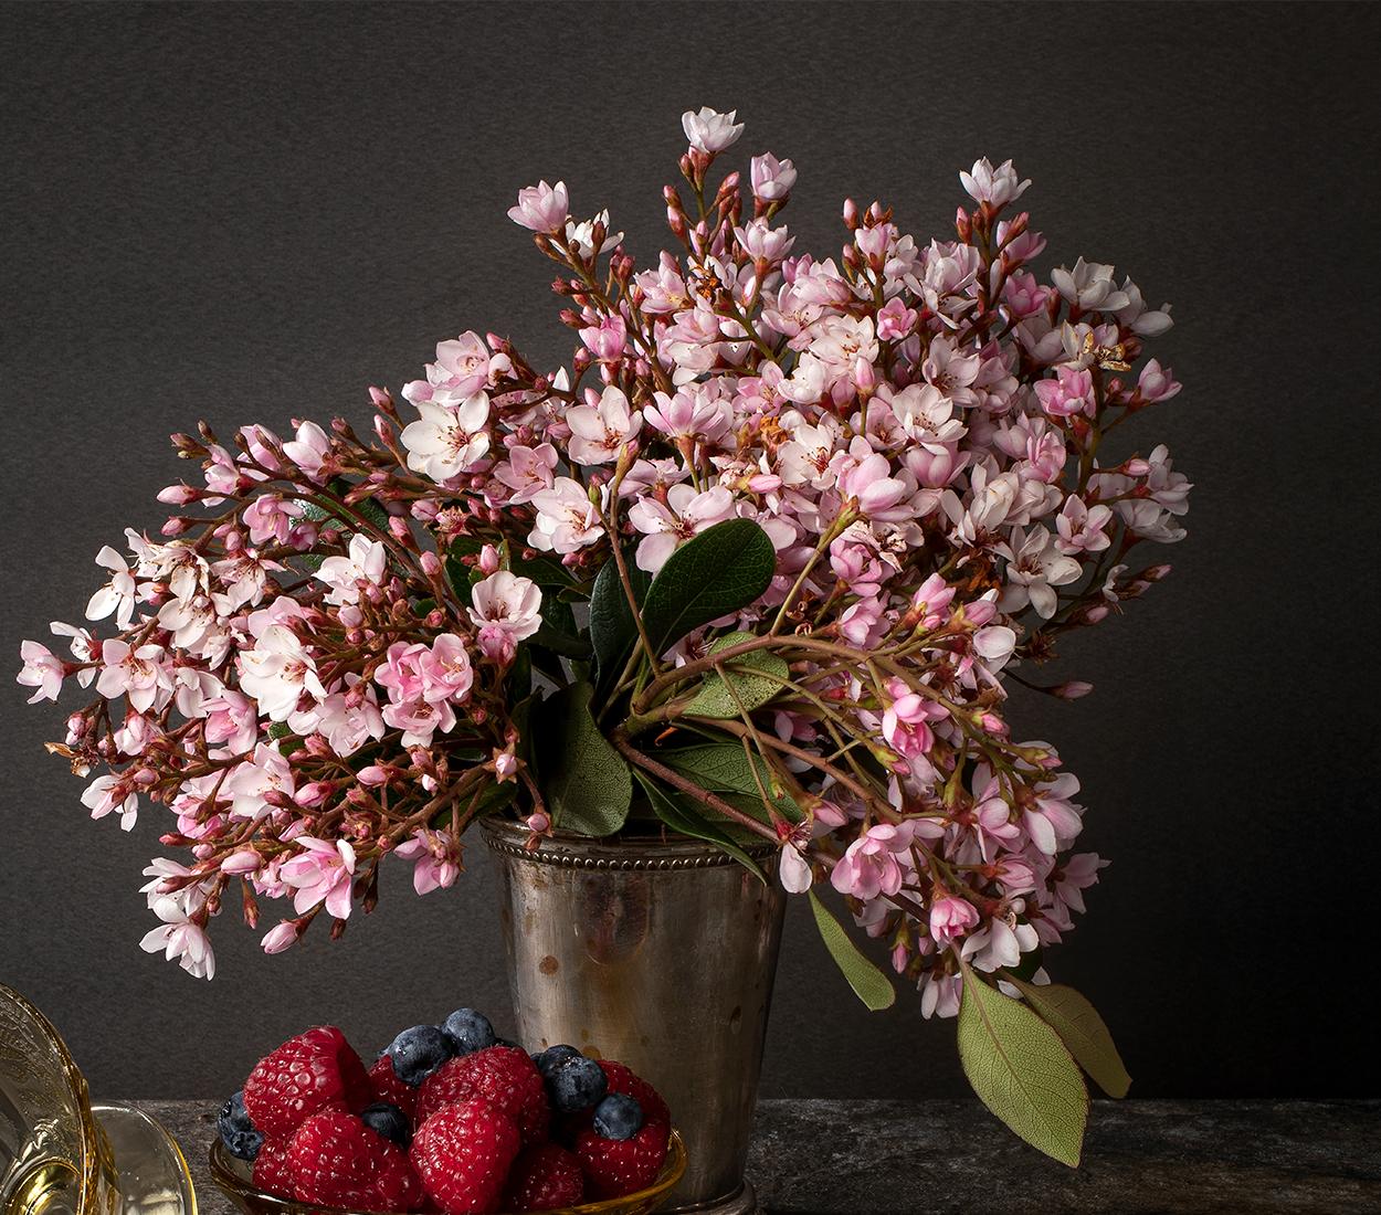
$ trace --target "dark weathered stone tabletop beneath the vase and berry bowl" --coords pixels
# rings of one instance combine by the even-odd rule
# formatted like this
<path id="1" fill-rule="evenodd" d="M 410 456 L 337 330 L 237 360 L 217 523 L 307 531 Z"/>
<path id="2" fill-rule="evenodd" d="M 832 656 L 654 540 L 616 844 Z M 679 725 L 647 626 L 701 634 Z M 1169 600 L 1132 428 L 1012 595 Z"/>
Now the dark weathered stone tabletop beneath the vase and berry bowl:
<path id="1" fill-rule="evenodd" d="M 202 1215 L 218 1102 L 145 1100 L 182 1145 Z M 1077 1171 L 972 1100 L 766 1100 L 749 1161 L 766 1212 L 1381 1212 L 1381 1100 L 1095 1102 Z"/>

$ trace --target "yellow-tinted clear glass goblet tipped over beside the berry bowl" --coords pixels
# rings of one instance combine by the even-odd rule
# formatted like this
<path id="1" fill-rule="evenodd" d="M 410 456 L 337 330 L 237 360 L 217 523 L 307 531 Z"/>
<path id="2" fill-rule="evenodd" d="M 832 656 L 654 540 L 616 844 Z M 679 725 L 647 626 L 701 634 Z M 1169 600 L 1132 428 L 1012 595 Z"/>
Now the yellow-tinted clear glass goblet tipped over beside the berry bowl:
<path id="1" fill-rule="evenodd" d="M 196 1215 L 173 1136 L 134 1106 L 93 1106 L 57 1030 L 3 983 L 0 1215 Z"/>

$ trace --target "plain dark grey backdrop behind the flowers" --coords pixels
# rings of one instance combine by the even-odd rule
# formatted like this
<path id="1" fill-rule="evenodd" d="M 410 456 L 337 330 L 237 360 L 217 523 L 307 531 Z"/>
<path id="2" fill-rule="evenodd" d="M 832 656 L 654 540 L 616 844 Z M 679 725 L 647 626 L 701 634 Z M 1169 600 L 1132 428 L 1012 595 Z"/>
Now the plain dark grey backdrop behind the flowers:
<path id="1" fill-rule="evenodd" d="M 1170 581 L 1069 646 L 1097 694 L 1021 706 L 1114 862 L 1052 969 L 1141 1095 L 1367 1091 L 1378 33 L 1324 4 L 4 6 L 0 656 L 157 525 L 170 431 L 365 418 L 463 329 L 566 352 L 504 217 L 539 175 L 648 257 L 679 113 L 737 106 L 744 164 L 801 171 L 798 247 L 837 251 L 845 195 L 943 233 L 956 171 L 1011 156 L 1055 260 L 1175 304 L 1155 352 L 1185 392 L 1137 438 L 1197 482 Z M 395 873 L 334 946 L 265 958 L 224 915 L 197 983 L 138 951 L 160 812 L 87 822 L 41 751 L 61 715 L 14 685 L 0 712 L 0 979 L 98 1091 L 228 1091 L 327 1018 L 366 1048 L 460 1002 L 507 1022 L 478 844 L 450 892 Z M 769 1094 L 956 1094 L 953 1033 L 907 993 L 863 1012 L 793 908 Z"/>

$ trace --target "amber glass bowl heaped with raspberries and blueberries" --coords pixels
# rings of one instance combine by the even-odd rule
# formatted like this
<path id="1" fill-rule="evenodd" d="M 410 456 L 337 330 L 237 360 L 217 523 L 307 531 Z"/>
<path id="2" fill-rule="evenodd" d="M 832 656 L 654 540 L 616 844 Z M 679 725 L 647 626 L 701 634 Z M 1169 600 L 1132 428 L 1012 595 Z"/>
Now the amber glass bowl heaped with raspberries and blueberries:
<path id="1" fill-rule="evenodd" d="M 655 1211 L 685 1171 L 666 1102 L 574 1047 L 529 1055 L 461 1008 L 363 1063 L 318 1026 L 221 1107 L 215 1183 L 244 1215 Z"/>

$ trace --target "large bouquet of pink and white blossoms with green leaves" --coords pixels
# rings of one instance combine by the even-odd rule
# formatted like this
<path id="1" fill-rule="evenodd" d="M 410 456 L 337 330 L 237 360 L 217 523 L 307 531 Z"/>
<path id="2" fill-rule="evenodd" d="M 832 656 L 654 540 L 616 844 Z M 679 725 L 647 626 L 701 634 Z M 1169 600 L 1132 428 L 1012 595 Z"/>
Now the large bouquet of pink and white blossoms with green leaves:
<path id="1" fill-rule="evenodd" d="M 450 886 L 482 815 L 670 830 L 760 875 L 766 841 L 859 995 L 892 980 L 815 886 L 958 1016 L 994 1111 L 1077 1158 L 1076 1060 L 1127 1078 L 1043 957 L 1103 862 L 1072 852 L 1079 781 L 1004 708 L 1167 573 L 1143 543 L 1185 534 L 1166 449 L 1106 456 L 1179 391 L 1142 358 L 1170 309 L 1083 258 L 1037 278 L 1010 162 L 960 174 L 953 239 L 848 202 L 816 258 L 780 224 L 790 160 L 715 184 L 742 126 L 684 127 L 674 247 L 644 269 L 562 182 L 510 211 L 558 266 L 569 366 L 464 333 L 370 389 L 371 436 L 175 435 L 199 472 L 160 494 L 177 514 L 98 554 L 91 627 L 52 625 L 69 656 L 25 642 L 19 682 L 94 692 L 51 747 L 98 773 L 93 817 L 173 816 L 144 947 L 193 975 L 228 900 L 250 926 L 290 903 L 264 935 L 286 950 L 371 910 L 381 864 Z"/>

